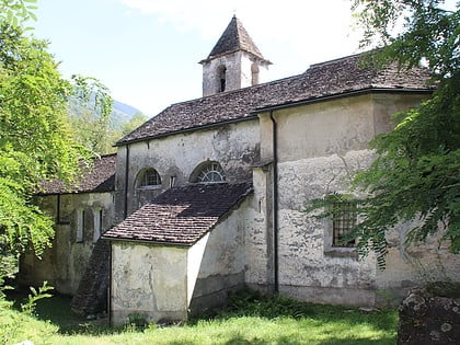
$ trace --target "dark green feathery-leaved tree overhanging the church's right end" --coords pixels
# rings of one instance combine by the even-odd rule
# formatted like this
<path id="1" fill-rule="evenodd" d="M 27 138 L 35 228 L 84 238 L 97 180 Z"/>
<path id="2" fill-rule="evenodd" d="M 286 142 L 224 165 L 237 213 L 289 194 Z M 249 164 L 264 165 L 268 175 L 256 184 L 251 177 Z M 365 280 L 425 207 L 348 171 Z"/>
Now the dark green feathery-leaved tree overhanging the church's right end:
<path id="1" fill-rule="evenodd" d="M 376 137 L 377 159 L 358 173 L 354 186 L 369 193 L 360 203 L 353 237 L 358 252 L 373 250 L 384 265 L 386 233 L 416 220 L 406 244 L 445 231 L 442 240 L 460 253 L 460 14 L 439 0 L 354 0 L 365 28 L 364 46 L 377 42 L 379 66 L 409 69 L 424 61 L 436 85 L 419 106 L 394 115 L 395 127 Z M 403 30 L 395 31 L 403 22 Z M 394 34 L 395 33 L 395 34 Z M 318 205 L 317 205 L 318 206 Z"/>

